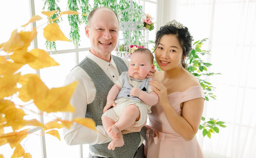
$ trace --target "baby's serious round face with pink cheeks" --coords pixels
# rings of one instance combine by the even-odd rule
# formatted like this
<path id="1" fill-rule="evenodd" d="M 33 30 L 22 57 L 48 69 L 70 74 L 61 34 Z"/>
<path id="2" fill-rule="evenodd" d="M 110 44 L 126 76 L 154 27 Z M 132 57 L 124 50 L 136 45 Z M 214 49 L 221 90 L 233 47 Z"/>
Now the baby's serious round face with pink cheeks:
<path id="1" fill-rule="evenodd" d="M 150 62 L 150 56 L 144 53 L 134 53 L 131 56 L 131 62 L 128 68 L 129 76 L 135 79 L 143 80 L 148 72 L 154 69 Z"/>

